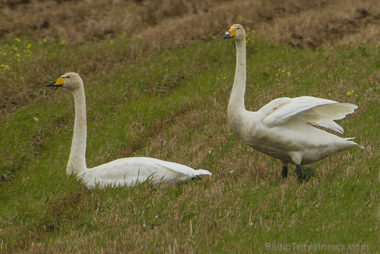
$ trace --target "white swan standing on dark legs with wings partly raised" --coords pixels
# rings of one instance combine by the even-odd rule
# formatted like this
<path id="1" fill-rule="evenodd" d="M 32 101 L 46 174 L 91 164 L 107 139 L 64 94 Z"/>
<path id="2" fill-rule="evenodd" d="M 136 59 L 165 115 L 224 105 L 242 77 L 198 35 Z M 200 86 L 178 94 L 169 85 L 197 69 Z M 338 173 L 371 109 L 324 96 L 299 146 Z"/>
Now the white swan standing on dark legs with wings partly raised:
<path id="1" fill-rule="evenodd" d="M 250 147 L 282 161 L 282 177 L 288 176 L 288 164 L 296 165 L 298 179 L 305 177 L 301 165 L 311 164 L 340 151 L 360 147 L 349 141 L 317 129 L 312 125 L 343 133 L 334 120 L 345 118 L 357 108 L 350 103 L 309 96 L 277 98 L 259 111 L 245 110 L 246 81 L 245 30 L 231 26 L 223 39 L 233 38 L 236 44 L 236 71 L 228 105 L 233 131 Z"/>

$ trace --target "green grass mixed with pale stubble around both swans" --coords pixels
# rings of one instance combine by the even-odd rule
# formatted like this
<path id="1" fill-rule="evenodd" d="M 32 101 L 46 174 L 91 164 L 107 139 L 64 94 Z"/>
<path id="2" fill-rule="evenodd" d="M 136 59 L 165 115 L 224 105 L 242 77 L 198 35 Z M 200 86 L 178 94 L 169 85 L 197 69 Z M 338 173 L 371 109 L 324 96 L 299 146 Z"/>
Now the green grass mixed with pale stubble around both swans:
<path id="1" fill-rule="evenodd" d="M 256 253 L 265 243 L 273 252 L 275 244 L 292 243 L 298 250 L 332 244 L 379 251 L 378 48 L 249 44 L 249 110 L 302 95 L 359 106 L 340 123 L 366 149 L 313 164 L 316 177 L 298 184 L 293 174 L 282 183 L 280 163 L 229 129 L 233 42 L 216 38 L 131 56 L 128 45 L 137 42 L 123 39 L 75 48 L 20 43 L 28 40 L 31 57 L 2 60 L 12 70 L 1 74 L 10 89 L 41 79 L 31 89 L 35 98 L 0 125 L 0 253 Z M 0 43 L 8 56 L 13 43 Z M 72 96 L 43 84 L 68 71 L 85 83 L 88 167 L 150 156 L 214 176 L 181 186 L 92 191 L 67 177 Z"/>

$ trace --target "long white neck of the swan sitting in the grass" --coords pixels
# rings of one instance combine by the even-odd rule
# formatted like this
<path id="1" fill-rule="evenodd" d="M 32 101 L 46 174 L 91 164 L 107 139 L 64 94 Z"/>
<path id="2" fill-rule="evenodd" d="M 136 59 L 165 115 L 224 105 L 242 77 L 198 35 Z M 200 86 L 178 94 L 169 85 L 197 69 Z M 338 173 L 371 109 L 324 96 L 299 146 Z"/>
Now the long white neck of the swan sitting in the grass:
<path id="1" fill-rule="evenodd" d="M 75 103 L 75 122 L 74 134 L 72 136 L 71 151 L 69 161 L 67 162 L 66 173 L 68 175 L 81 174 L 86 170 L 86 138 L 87 138 L 87 122 L 86 122 L 86 97 L 83 85 L 72 90 Z"/>

